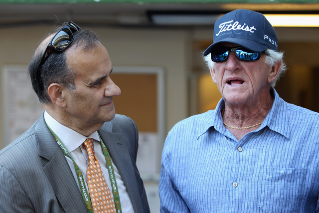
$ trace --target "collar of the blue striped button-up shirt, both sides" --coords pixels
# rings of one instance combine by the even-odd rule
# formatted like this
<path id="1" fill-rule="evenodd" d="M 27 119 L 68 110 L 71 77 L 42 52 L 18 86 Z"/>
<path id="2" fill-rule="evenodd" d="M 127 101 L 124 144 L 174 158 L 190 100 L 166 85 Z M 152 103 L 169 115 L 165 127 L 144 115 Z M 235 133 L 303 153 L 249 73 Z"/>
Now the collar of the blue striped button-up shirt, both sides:
<path id="1" fill-rule="evenodd" d="M 262 125 L 255 131 L 259 131 L 264 127 L 268 126 L 269 129 L 278 132 L 279 134 L 289 138 L 290 130 L 288 125 L 287 118 L 287 106 L 285 101 L 279 97 L 278 93 L 274 88 L 271 88 L 271 94 L 275 97 L 273 106 L 266 116 Z M 199 125 L 199 135 L 197 139 L 208 131 L 211 127 L 214 127 L 216 131 L 224 134 L 226 131 L 225 126 L 223 125 L 223 120 L 221 116 L 222 110 L 225 108 L 225 102 L 223 98 L 221 98 L 216 106 L 215 110 L 209 110 L 204 114 L 204 120 L 202 125 Z"/>

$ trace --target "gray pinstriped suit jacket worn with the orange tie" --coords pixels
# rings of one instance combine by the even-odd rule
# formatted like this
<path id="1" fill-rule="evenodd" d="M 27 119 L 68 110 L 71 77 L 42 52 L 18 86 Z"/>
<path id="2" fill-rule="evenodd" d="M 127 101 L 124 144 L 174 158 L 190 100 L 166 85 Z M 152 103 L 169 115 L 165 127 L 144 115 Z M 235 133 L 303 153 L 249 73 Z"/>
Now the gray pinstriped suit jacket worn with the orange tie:
<path id="1" fill-rule="evenodd" d="M 138 132 L 116 115 L 98 130 L 127 188 L 135 213 L 149 213 L 136 166 Z M 42 116 L 0 151 L 0 213 L 86 213 L 70 167 Z"/>

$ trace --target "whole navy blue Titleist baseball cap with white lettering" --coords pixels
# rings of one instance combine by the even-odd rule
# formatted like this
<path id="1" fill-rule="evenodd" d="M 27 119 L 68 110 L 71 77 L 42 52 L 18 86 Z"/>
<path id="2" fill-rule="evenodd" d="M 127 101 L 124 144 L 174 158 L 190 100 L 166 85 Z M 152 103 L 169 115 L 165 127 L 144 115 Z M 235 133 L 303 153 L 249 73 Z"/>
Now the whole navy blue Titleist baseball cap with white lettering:
<path id="1" fill-rule="evenodd" d="M 274 27 L 263 14 L 248 9 L 236 9 L 217 19 L 213 43 L 204 51 L 204 56 L 221 42 L 235 43 L 256 52 L 268 48 L 277 51 L 278 47 Z"/>

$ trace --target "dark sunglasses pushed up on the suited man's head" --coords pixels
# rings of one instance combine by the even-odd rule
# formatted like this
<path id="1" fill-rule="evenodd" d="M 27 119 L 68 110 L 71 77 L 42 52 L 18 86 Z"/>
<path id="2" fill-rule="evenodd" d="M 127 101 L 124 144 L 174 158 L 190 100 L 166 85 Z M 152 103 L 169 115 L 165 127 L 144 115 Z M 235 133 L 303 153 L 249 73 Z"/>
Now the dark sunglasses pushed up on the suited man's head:
<path id="1" fill-rule="evenodd" d="M 36 77 L 38 81 L 41 79 L 41 67 L 52 52 L 61 52 L 65 50 L 74 40 L 74 33 L 80 31 L 81 28 L 70 21 L 64 27 L 62 27 L 51 39 L 50 43 L 46 47 L 39 66 L 37 68 Z M 42 84 L 40 84 L 42 86 Z M 43 87 L 43 86 L 42 86 Z M 42 88 L 43 89 L 43 88 Z"/>

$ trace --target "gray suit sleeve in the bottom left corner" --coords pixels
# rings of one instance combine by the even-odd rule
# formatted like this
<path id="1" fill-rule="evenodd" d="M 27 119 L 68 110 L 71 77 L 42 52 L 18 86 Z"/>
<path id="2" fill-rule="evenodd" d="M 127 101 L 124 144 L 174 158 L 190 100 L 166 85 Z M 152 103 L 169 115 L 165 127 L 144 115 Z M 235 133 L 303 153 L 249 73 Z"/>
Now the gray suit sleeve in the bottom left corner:
<path id="1" fill-rule="evenodd" d="M 29 198 L 15 177 L 0 165 L 0 212 L 34 213 Z"/>

